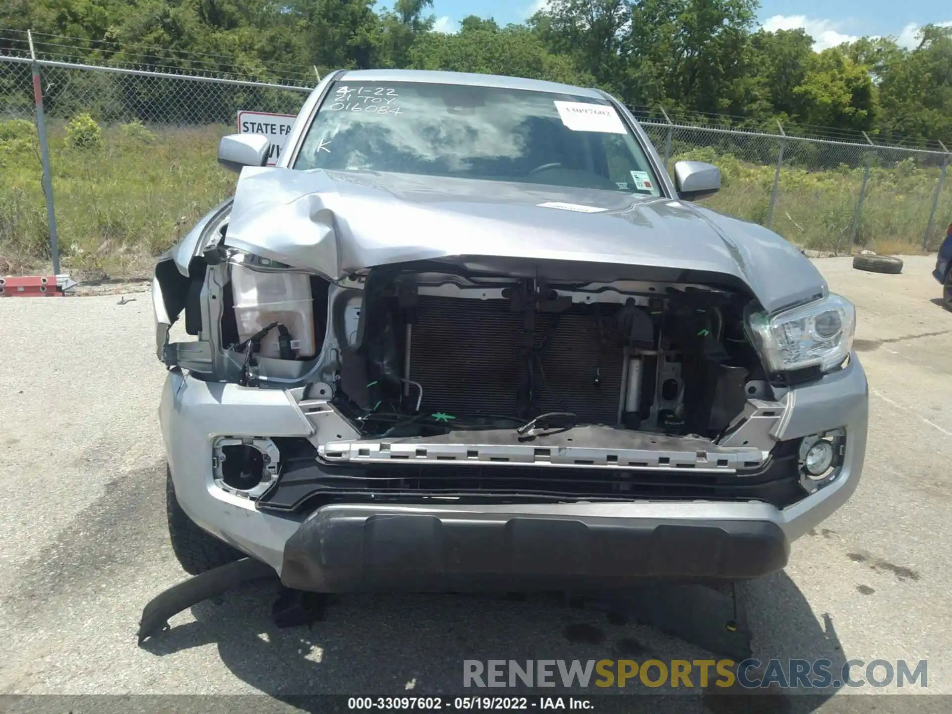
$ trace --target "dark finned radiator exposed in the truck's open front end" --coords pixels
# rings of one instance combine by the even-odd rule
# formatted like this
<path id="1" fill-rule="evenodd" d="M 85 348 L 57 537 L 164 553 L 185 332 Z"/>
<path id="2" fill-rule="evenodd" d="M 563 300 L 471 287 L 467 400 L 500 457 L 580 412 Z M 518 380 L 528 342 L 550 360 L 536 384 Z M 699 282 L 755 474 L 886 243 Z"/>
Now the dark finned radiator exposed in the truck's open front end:
<path id="1" fill-rule="evenodd" d="M 585 423 L 615 423 L 623 358 L 612 329 L 617 309 L 579 305 L 559 316 L 542 370 L 536 369 L 538 413 L 571 411 Z M 540 345 L 555 316 L 536 313 L 535 319 Z M 523 326 L 523 313 L 507 301 L 421 296 L 410 359 L 411 379 L 424 387 L 421 408 L 517 416 Z"/>

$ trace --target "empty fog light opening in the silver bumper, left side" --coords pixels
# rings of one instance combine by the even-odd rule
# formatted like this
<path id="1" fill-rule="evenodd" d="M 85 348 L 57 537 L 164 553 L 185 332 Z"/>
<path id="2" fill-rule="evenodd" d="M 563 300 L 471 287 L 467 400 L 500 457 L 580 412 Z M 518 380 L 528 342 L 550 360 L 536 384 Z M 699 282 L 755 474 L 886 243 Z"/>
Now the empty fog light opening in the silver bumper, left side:
<path id="1" fill-rule="evenodd" d="M 258 498 L 278 478 L 281 455 L 268 438 L 223 437 L 215 442 L 215 484 L 238 496 Z"/>

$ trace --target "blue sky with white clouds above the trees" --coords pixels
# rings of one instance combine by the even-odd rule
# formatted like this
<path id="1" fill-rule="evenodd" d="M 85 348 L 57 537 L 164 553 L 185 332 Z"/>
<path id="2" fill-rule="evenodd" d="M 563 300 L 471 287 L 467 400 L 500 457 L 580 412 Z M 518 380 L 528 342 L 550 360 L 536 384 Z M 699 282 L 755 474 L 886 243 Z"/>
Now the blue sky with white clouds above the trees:
<path id="1" fill-rule="evenodd" d="M 493 17 L 506 25 L 522 22 L 544 5 L 545 0 L 434 0 L 432 12 L 437 18 L 435 29 L 452 32 L 466 15 Z M 803 28 L 818 51 L 863 35 L 892 35 L 902 46 L 912 48 L 922 25 L 952 25 L 952 4 L 948 0 L 761 0 L 758 21 L 766 30 Z"/>

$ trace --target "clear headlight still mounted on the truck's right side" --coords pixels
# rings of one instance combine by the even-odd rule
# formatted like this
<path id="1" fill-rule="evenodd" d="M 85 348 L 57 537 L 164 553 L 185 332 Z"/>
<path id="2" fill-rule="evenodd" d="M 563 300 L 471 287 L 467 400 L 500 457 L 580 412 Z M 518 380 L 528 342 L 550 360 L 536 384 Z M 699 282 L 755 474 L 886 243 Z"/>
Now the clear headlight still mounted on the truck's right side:
<path id="1" fill-rule="evenodd" d="M 820 367 L 824 372 L 843 364 L 853 346 L 856 309 L 840 295 L 783 310 L 747 316 L 751 342 L 772 372 Z"/>

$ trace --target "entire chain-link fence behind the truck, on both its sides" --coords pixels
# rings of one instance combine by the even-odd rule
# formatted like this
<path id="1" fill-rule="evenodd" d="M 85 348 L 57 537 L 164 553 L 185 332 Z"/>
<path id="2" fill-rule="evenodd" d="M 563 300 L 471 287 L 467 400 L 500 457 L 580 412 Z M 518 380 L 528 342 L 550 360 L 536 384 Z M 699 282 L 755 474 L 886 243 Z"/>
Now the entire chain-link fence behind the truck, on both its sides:
<path id="1" fill-rule="evenodd" d="M 29 56 L 0 48 L 0 273 L 50 258 Z M 22 55 L 22 53 L 20 53 Z M 234 188 L 218 139 L 239 110 L 296 114 L 308 87 L 38 59 L 64 265 L 129 272 Z M 952 224 L 945 150 L 672 122 L 635 112 L 665 164 L 722 171 L 710 208 L 837 253 L 936 248 Z M 944 149 L 944 147 L 942 148 Z M 18 266 L 19 264 L 19 266 Z"/>

